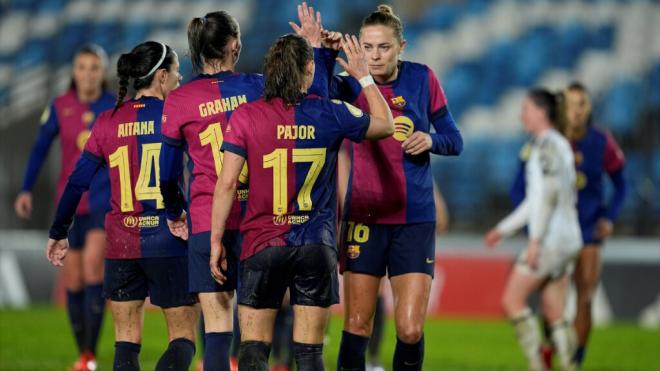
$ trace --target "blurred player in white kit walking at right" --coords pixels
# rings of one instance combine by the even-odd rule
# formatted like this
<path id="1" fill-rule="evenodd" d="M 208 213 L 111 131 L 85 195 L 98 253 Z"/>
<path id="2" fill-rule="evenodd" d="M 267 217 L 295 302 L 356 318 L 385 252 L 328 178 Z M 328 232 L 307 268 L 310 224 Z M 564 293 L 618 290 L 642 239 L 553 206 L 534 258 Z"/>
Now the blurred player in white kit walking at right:
<path id="1" fill-rule="evenodd" d="M 525 169 L 526 196 L 518 207 L 485 236 L 486 246 L 527 225 L 529 242 L 509 276 L 502 307 L 513 321 L 530 370 L 544 369 L 540 336 L 527 299 L 539 290 L 543 315 L 561 367 L 571 369 L 573 344 L 564 320 L 567 276 L 581 245 L 575 189 L 573 151 L 553 125 L 558 122 L 557 97 L 531 90 L 523 103 L 522 122 L 533 139 Z"/>

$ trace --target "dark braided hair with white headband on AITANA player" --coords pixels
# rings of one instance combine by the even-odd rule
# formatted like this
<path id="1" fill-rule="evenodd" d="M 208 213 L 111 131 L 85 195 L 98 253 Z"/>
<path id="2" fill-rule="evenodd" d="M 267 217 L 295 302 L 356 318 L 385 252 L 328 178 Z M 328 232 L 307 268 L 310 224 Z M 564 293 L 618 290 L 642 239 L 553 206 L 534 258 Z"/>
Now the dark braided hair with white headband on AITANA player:
<path id="1" fill-rule="evenodd" d="M 164 57 L 163 46 L 165 47 Z M 151 85 L 157 70 L 165 68 L 169 71 L 173 63 L 174 51 L 172 48 L 156 41 L 143 42 L 133 48 L 130 53 L 122 54 L 117 61 L 119 92 L 112 113 L 117 112 L 117 109 L 124 102 L 130 79 L 133 79 L 133 89 L 144 89 Z"/>

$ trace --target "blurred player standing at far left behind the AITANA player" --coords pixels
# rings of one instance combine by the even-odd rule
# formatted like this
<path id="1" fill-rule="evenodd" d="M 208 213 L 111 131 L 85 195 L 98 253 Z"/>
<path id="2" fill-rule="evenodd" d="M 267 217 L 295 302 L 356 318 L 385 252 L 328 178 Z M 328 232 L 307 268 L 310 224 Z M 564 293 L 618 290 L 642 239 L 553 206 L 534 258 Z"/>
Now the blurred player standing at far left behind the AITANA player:
<path id="1" fill-rule="evenodd" d="M 21 192 L 16 198 L 15 209 L 20 218 L 28 219 L 32 213 L 32 188 L 55 137 L 60 135 L 62 153 L 57 181 L 59 199 L 95 118 L 112 108 L 115 97 L 105 89 L 104 83 L 107 62 L 105 51 L 96 45 L 85 46 L 76 53 L 71 87 L 55 98 L 41 116 L 39 135 L 30 153 Z M 63 274 L 69 321 L 79 352 L 74 370 L 96 369 L 96 344 L 105 309 L 102 296 L 103 216 L 110 208 L 109 199 L 108 173 L 102 170 L 82 198 L 69 234 L 71 252 Z"/>

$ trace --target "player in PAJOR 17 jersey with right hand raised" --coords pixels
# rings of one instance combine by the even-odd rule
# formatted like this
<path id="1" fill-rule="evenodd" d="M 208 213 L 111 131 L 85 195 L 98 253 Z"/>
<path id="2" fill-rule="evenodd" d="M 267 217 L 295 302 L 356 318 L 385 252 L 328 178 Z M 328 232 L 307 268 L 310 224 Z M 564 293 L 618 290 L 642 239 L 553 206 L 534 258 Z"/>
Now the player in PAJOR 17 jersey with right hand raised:
<path id="1" fill-rule="evenodd" d="M 345 38 L 343 49 L 348 62 L 340 64 L 361 82 L 371 116 L 341 101 L 306 96 L 314 54 L 305 39 L 287 35 L 266 56 L 264 99 L 239 108 L 227 128 L 214 193 L 210 264 L 214 278 L 225 282 L 228 248 L 222 239 L 247 162 L 250 198 L 241 224 L 238 298 L 241 369 L 268 369 L 273 322 L 289 288 L 298 370 L 323 370 L 328 307 L 338 302 L 337 152 L 344 138 L 377 139 L 394 130 L 357 38 Z"/>

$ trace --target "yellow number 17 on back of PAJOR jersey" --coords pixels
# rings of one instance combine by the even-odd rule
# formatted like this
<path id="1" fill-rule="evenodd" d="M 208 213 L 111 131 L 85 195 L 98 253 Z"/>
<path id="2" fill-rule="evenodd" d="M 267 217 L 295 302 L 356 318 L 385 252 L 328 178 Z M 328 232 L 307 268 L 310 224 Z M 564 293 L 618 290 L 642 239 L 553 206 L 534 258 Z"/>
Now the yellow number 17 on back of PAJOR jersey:
<path id="1" fill-rule="evenodd" d="M 264 169 L 273 169 L 273 215 L 287 213 L 289 200 L 288 188 L 288 149 L 278 148 L 264 155 Z M 325 148 L 294 148 L 291 150 L 292 162 L 311 162 L 305 182 L 298 191 L 298 210 L 312 210 L 312 187 L 316 183 L 325 164 Z"/>

